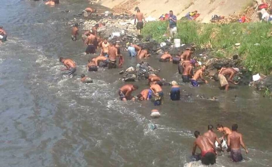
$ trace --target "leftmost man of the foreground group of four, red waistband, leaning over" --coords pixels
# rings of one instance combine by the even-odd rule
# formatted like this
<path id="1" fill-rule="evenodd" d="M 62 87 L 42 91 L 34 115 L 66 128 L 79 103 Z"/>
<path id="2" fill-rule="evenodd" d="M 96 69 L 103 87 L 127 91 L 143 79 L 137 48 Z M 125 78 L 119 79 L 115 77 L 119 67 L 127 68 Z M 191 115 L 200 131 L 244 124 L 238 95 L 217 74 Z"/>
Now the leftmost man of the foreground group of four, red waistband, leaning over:
<path id="1" fill-rule="evenodd" d="M 214 143 L 205 136 L 200 136 L 200 132 L 195 131 L 195 142 L 193 145 L 192 155 L 195 156 L 196 147 L 201 150 L 201 162 L 204 165 L 215 164 L 217 152 L 215 150 Z"/>

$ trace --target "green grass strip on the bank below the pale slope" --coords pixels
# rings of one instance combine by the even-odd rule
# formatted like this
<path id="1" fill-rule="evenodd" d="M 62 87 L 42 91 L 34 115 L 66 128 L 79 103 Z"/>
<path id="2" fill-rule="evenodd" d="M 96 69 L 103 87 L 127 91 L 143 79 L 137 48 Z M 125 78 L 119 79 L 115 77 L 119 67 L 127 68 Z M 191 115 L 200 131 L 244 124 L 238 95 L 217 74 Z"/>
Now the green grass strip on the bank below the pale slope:
<path id="1" fill-rule="evenodd" d="M 142 34 L 152 35 L 158 42 L 168 36 L 167 22 L 151 22 Z M 183 43 L 194 43 L 199 48 L 209 47 L 215 57 L 231 57 L 235 53 L 243 58 L 244 66 L 253 73 L 270 74 L 272 71 L 272 37 L 270 23 L 202 24 L 178 21 L 178 35 Z M 235 43 L 241 43 L 239 48 Z M 257 45 L 256 45 L 257 44 Z"/>

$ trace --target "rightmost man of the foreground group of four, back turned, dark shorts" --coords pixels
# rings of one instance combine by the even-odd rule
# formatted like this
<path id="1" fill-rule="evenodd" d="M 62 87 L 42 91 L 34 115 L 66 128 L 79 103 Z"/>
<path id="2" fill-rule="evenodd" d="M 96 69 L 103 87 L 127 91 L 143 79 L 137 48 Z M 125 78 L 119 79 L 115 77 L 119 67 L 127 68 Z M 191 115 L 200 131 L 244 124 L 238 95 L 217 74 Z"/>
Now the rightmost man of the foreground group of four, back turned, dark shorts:
<path id="1" fill-rule="evenodd" d="M 246 154 L 248 154 L 248 150 L 244 144 L 242 134 L 237 132 L 238 125 L 232 125 L 232 133 L 228 135 L 228 150 L 230 151 L 230 159 L 233 162 L 240 162 L 243 160 L 240 145 L 245 149 Z"/>

